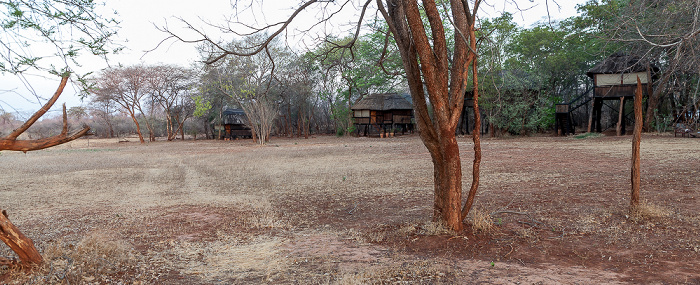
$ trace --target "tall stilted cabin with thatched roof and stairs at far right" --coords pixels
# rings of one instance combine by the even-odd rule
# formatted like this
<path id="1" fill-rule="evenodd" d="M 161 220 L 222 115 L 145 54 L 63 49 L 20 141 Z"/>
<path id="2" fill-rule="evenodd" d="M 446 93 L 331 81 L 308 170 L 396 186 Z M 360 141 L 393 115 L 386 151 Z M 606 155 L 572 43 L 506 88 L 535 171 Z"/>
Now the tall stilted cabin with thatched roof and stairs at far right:
<path id="1" fill-rule="evenodd" d="M 634 124 L 634 100 L 630 99 L 635 96 L 637 77 L 642 83 L 642 96 L 648 96 L 653 92 L 652 84 L 658 72 L 656 65 L 638 56 L 620 52 L 612 54 L 586 73 L 593 79 L 592 90 L 569 103 L 555 106 L 556 128 L 561 134 L 573 134 L 572 112 L 592 101 L 588 131 L 601 133 L 615 127 L 617 135 L 624 135 L 626 126 Z M 604 113 L 603 106 L 609 112 Z"/>

